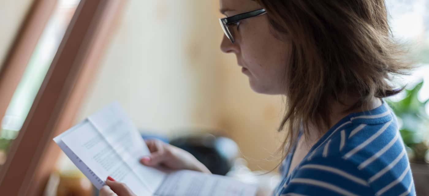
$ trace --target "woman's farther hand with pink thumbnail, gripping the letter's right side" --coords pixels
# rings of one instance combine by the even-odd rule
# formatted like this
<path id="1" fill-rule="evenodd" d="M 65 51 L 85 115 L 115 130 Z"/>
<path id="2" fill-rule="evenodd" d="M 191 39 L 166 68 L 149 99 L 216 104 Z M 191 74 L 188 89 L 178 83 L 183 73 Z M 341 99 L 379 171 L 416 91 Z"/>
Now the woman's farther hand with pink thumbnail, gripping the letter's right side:
<path id="1" fill-rule="evenodd" d="M 211 173 L 207 167 L 187 151 L 166 144 L 158 139 L 146 140 L 151 155 L 140 159 L 145 166 L 165 166 L 168 169 L 188 169 Z"/>

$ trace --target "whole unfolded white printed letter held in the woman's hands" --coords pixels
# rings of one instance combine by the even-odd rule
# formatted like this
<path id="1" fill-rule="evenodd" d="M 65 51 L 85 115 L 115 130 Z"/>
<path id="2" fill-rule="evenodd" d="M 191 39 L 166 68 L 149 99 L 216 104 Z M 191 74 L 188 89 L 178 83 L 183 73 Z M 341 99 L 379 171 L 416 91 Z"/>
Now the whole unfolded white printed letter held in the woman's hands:
<path id="1" fill-rule="evenodd" d="M 220 175 L 143 166 L 148 147 L 118 103 L 54 138 L 61 150 L 100 189 L 107 176 L 138 196 L 252 196 L 256 186 Z"/>

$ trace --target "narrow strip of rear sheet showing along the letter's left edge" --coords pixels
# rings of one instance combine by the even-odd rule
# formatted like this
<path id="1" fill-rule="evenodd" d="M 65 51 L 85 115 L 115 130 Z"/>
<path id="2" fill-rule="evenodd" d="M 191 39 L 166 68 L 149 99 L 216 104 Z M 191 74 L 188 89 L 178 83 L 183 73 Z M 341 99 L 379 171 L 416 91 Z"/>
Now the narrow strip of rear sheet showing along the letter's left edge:
<path id="1" fill-rule="evenodd" d="M 73 129 L 79 128 L 82 124 L 89 123 L 84 121 L 81 124 L 76 125 Z M 89 167 L 83 163 L 83 161 L 73 153 L 73 151 L 61 140 L 63 136 L 66 136 L 69 132 L 64 132 L 61 135 L 54 138 L 54 141 L 58 144 L 61 150 L 69 157 L 70 160 L 76 165 L 76 167 L 94 184 L 97 189 L 101 189 L 105 185 L 104 180 L 100 179 Z"/>

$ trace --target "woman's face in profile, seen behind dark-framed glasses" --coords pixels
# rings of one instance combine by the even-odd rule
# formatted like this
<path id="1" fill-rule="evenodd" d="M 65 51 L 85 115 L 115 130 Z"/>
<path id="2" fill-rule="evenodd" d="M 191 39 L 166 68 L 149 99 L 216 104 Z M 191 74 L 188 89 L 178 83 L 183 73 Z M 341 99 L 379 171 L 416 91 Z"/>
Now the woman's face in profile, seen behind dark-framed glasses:
<path id="1" fill-rule="evenodd" d="M 262 8 L 252 0 L 220 0 L 220 5 L 226 17 Z M 276 33 L 276 38 L 267 15 L 242 20 L 238 26 L 231 25 L 230 30 L 235 43 L 224 35 L 221 50 L 236 54 L 251 88 L 257 93 L 284 94 L 285 66 L 291 50 L 287 35 Z"/>

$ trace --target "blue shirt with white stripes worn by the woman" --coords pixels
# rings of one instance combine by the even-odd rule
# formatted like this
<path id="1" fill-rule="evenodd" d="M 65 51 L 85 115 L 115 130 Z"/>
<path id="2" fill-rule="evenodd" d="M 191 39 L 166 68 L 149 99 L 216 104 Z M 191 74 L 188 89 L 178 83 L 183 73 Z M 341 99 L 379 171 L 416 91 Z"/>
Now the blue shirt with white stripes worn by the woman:
<path id="1" fill-rule="evenodd" d="M 341 119 L 287 176 L 293 151 L 280 171 L 275 196 L 416 195 L 395 115 L 383 103 Z"/>

